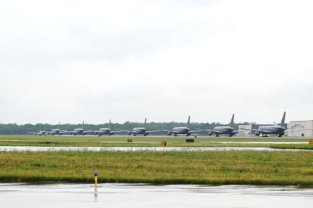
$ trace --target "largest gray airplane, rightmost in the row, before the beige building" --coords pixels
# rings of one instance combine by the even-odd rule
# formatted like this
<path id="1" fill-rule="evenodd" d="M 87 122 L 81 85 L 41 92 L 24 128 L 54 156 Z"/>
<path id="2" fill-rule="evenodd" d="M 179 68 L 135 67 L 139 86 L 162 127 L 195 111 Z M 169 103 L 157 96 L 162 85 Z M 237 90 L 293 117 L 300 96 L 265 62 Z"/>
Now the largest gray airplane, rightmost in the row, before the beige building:
<path id="1" fill-rule="evenodd" d="M 255 131 L 255 135 L 259 136 L 260 134 L 262 134 L 262 137 L 268 137 L 267 134 L 277 134 L 278 137 L 281 137 L 282 135 L 285 134 L 285 132 L 288 132 L 288 131 L 301 131 L 301 130 L 311 129 L 311 128 L 305 128 L 305 129 L 287 130 L 290 128 L 284 127 L 285 114 L 286 114 L 286 112 L 284 112 L 283 118 L 281 119 L 279 126 L 262 126 L 260 129 L 246 129 L 246 128 L 241 128 L 241 129 L 249 130 L 249 131 Z"/>

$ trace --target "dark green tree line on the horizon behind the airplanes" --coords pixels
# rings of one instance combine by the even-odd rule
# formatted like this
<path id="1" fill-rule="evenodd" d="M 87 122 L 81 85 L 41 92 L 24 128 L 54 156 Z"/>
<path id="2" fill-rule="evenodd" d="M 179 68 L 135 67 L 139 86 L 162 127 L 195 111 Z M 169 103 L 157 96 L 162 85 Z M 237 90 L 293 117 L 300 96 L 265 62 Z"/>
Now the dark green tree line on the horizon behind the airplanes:
<path id="1" fill-rule="evenodd" d="M 248 122 L 244 123 L 235 123 L 235 128 L 238 128 L 238 125 L 248 125 Z M 73 131 L 74 128 L 81 128 L 82 124 L 61 124 L 60 129 L 61 130 L 69 130 Z M 43 131 L 44 127 L 46 126 L 46 131 L 51 131 L 52 129 L 57 129 L 59 127 L 59 124 L 52 125 L 49 123 L 37 123 L 35 125 L 27 123 L 27 124 L 21 124 L 17 125 L 16 123 L 8 123 L 8 124 L 0 124 L 0 135 L 14 135 L 14 134 L 27 134 L 27 132 L 38 132 Z M 108 128 L 109 123 L 103 123 L 103 124 L 84 124 L 84 129 L 92 129 L 94 131 L 99 130 L 100 128 Z M 183 127 L 186 126 L 186 123 L 177 123 L 177 122 L 163 122 L 163 123 L 146 123 L 147 129 L 167 129 L 172 130 L 174 127 Z M 189 128 L 201 128 L 201 129 L 213 129 L 216 126 L 229 126 L 228 124 L 221 124 L 221 123 L 190 123 Z M 137 123 L 137 122 L 130 122 L 126 121 L 125 123 L 111 123 L 110 129 L 113 131 L 114 129 L 122 129 L 122 130 L 132 130 L 133 128 L 143 127 L 143 123 Z M 66 133 L 65 133 L 66 134 Z M 93 134 L 92 132 L 87 133 L 87 135 Z M 126 135 L 127 132 L 117 132 L 114 135 Z M 151 132 L 152 135 L 166 135 L 167 132 Z M 197 134 L 200 135 L 206 135 L 208 132 L 197 132 Z"/>

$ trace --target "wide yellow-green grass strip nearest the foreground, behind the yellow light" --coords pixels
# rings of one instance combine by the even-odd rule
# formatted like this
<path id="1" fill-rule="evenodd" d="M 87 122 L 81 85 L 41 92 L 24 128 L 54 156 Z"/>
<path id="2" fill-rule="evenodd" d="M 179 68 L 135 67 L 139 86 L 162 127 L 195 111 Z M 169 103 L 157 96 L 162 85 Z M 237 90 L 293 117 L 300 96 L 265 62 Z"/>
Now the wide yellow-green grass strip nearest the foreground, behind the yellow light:
<path id="1" fill-rule="evenodd" d="M 311 152 L 0 152 L 2 181 L 313 185 Z"/>

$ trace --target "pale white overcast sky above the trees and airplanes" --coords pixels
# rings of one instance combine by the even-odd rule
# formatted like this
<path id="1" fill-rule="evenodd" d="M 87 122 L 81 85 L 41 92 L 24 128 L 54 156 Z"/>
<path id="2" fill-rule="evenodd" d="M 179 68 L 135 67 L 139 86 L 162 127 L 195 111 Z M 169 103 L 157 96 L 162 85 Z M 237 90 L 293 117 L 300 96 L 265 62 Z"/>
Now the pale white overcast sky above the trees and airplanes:
<path id="1" fill-rule="evenodd" d="M 2 123 L 313 120 L 312 1 L 0 1 Z"/>

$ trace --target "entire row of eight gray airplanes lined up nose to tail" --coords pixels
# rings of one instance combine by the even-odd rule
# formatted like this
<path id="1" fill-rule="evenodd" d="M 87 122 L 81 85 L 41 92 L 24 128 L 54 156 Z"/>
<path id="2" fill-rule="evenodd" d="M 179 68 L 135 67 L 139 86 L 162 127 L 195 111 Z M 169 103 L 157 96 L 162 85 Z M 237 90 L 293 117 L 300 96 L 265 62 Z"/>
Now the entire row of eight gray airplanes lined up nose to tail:
<path id="1" fill-rule="evenodd" d="M 99 137 L 102 136 L 103 134 L 108 134 L 111 136 L 115 132 L 127 132 L 128 135 L 131 135 L 133 133 L 134 136 L 136 134 L 143 134 L 144 136 L 148 135 L 150 132 L 158 132 L 158 131 L 165 131 L 167 132 L 168 135 L 174 134 L 175 137 L 177 137 L 177 134 L 185 134 L 186 137 L 190 136 L 192 132 L 199 132 L 199 131 L 207 131 L 210 136 L 215 134 L 216 137 L 219 137 L 220 134 L 225 134 L 228 135 L 228 137 L 232 137 L 235 132 L 243 131 L 243 130 L 250 130 L 250 131 L 255 131 L 255 135 L 259 136 L 262 134 L 262 137 L 268 137 L 268 134 L 275 134 L 278 135 L 278 137 L 281 137 L 282 135 L 285 134 L 285 132 L 288 131 L 300 131 L 300 130 L 308 130 L 311 128 L 305 128 L 305 129 L 293 129 L 293 128 L 285 128 L 283 125 L 285 123 L 285 114 L 284 112 L 283 118 L 281 119 L 280 125 L 278 126 L 262 126 L 260 129 L 246 129 L 246 128 L 240 128 L 240 129 L 235 129 L 234 128 L 234 114 L 233 117 L 230 121 L 229 126 L 217 126 L 214 127 L 213 129 L 200 129 L 200 128 L 194 128 L 190 129 L 189 128 L 189 121 L 190 121 L 190 116 L 187 121 L 187 126 L 186 127 L 174 127 L 173 130 L 165 130 L 165 129 L 146 129 L 146 121 L 147 118 L 145 119 L 145 123 L 143 124 L 143 127 L 139 128 L 133 128 L 132 130 L 121 130 L 121 129 L 115 129 L 111 130 L 110 129 L 110 124 L 111 120 L 109 122 L 109 127 L 108 128 L 100 128 L 98 131 L 93 131 L 91 129 L 85 130 L 84 129 L 84 121 L 81 126 L 81 128 L 75 128 L 73 131 L 68 131 L 68 130 L 60 130 L 60 122 L 59 122 L 59 128 L 58 129 L 52 129 L 51 131 L 46 131 L 46 126 L 44 126 L 44 131 L 39 131 L 37 132 L 28 132 L 29 134 L 34 134 L 34 135 L 55 135 L 59 134 L 62 135 L 64 133 L 69 133 L 69 134 L 82 134 L 86 135 L 88 132 L 94 132 L 95 135 L 98 135 Z M 288 130 L 289 129 L 289 130 Z"/>

